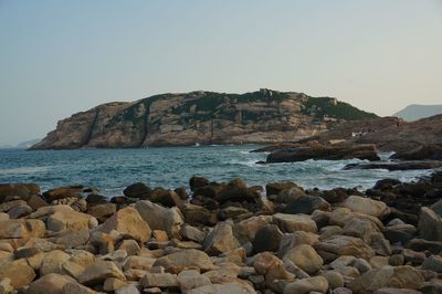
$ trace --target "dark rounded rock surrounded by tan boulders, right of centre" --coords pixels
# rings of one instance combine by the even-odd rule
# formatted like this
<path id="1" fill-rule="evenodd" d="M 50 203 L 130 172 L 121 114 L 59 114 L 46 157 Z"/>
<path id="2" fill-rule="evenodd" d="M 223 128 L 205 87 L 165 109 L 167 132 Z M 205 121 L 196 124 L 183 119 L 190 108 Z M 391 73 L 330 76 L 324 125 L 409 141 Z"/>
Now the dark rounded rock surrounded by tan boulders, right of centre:
<path id="1" fill-rule="evenodd" d="M 283 238 L 283 232 L 275 224 L 266 224 L 262 227 L 255 234 L 252 241 L 253 252 L 261 253 L 264 251 L 276 252 L 280 248 L 280 242 Z"/>

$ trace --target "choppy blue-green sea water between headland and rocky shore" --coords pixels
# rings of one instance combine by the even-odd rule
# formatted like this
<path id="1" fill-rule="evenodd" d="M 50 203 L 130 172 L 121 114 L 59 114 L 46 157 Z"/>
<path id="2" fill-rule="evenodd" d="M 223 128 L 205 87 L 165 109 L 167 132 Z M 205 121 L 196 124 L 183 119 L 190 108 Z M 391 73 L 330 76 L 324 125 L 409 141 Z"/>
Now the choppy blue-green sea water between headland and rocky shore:
<path id="1" fill-rule="evenodd" d="M 360 190 L 383 178 L 402 181 L 429 175 L 429 170 L 343 170 L 360 160 L 307 160 L 304 162 L 256 165 L 267 154 L 251 154 L 261 146 L 196 146 L 144 149 L 80 149 L 28 151 L 0 149 L 0 182 L 35 182 L 43 190 L 65 185 L 96 187 L 105 196 L 120 195 L 130 183 L 150 187 L 188 188 L 192 176 L 213 181 L 241 177 L 249 185 L 291 180 L 304 188 L 336 187 Z M 381 155 L 385 158 L 388 155 Z"/>

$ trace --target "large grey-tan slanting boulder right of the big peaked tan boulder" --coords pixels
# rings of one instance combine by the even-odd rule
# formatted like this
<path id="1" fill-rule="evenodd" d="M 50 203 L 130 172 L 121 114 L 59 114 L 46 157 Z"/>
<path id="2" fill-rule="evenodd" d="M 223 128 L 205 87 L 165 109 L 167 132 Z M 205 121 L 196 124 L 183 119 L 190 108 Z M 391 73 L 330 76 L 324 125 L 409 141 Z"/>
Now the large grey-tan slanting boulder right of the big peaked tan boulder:
<path id="1" fill-rule="evenodd" d="M 143 200 L 135 203 L 135 209 L 151 230 L 166 231 L 169 238 L 177 237 L 181 225 L 185 223 L 178 208 L 164 208 Z"/>

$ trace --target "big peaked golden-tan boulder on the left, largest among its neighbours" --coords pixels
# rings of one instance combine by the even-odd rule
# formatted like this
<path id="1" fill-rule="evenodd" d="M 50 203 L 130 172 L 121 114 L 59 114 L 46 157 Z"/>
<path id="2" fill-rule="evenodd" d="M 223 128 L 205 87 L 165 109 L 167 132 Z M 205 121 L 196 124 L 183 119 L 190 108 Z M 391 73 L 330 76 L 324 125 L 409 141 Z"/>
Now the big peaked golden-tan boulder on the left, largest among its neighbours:
<path id="1" fill-rule="evenodd" d="M 131 207 L 118 210 L 98 228 L 98 231 L 104 233 L 109 233 L 113 230 L 129 235 L 141 243 L 149 240 L 151 233 L 147 222 L 145 222 L 138 211 Z"/>

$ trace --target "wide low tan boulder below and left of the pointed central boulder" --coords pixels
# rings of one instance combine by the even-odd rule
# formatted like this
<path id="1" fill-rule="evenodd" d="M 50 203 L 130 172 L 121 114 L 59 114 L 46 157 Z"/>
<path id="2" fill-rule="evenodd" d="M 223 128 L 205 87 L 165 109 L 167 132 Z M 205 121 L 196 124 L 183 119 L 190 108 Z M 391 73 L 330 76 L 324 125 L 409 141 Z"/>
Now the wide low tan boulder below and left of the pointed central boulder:
<path id="1" fill-rule="evenodd" d="M 212 260 L 203 251 L 196 249 L 181 250 L 157 259 L 154 266 L 162 266 L 167 272 L 179 273 L 183 270 L 200 269 L 210 271 L 214 269 Z"/>

